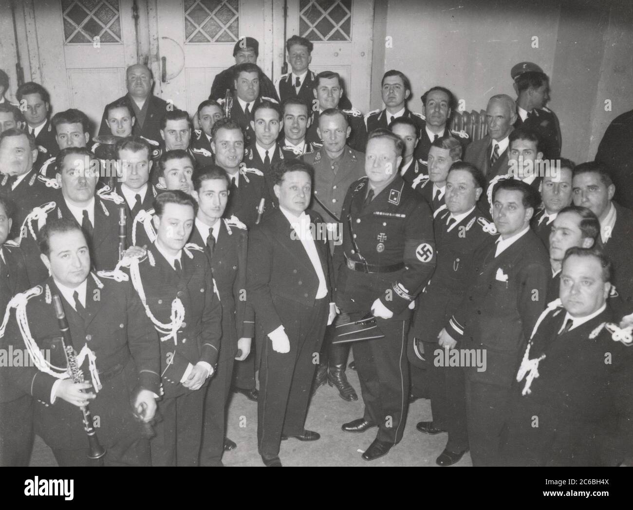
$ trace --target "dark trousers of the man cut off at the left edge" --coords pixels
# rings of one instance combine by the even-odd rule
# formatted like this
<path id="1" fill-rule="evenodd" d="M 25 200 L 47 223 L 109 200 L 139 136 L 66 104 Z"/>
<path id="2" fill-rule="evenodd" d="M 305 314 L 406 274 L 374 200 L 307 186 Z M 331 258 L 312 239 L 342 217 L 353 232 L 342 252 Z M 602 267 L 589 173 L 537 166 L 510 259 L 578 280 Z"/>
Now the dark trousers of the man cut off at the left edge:
<path id="1" fill-rule="evenodd" d="M 0 402 L 0 466 L 28 466 L 33 440 L 31 395 Z"/>

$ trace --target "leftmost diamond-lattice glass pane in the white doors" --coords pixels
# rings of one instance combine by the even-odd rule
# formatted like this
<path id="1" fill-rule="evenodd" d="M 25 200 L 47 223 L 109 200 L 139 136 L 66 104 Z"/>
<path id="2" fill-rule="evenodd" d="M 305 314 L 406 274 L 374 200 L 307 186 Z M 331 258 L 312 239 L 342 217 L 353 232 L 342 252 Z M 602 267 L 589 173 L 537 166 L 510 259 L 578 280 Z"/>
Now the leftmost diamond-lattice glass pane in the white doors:
<path id="1" fill-rule="evenodd" d="M 93 37 L 122 42 L 118 0 L 61 0 L 61 8 L 66 44 L 85 44 Z"/>

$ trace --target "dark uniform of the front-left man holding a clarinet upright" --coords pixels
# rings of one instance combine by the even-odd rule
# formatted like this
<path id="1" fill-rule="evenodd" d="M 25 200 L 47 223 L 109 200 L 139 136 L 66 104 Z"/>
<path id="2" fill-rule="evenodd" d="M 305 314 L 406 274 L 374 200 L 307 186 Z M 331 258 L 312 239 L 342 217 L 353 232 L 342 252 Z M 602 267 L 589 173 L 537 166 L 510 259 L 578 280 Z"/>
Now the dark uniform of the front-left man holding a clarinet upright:
<path id="1" fill-rule="evenodd" d="M 102 388 L 89 406 L 92 417 L 99 418 L 96 431 L 106 449 L 106 465 L 149 465 L 147 440 L 142 438 L 141 425 L 134 418 L 130 402 L 137 390 L 160 394 L 159 347 L 156 332 L 132 285 L 92 273 L 87 278 L 82 312 L 72 308 L 52 277 L 35 289 L 37 294 L 26 306 L 28 326 L 37 346 L 50 354 L 50 363 L 66 366 L 58 320 L 53 304 L 47 302 L 47 295 L 51 294 L 61 297 L 75 352 L 88 345 L 96 356 Z M 15 349 L 24 349 L 15 315 L 9 321 L 5 338 Z M 80 368 L 90 382 L 88 362 Z M 59 397 L 51 404 L 51 389 L 57 379 L 35 366 L 12 368 L 8 376 L 37 400 L 35 432 L 53 449 L 58 463 L 89 465 L 82 413 Z"/>

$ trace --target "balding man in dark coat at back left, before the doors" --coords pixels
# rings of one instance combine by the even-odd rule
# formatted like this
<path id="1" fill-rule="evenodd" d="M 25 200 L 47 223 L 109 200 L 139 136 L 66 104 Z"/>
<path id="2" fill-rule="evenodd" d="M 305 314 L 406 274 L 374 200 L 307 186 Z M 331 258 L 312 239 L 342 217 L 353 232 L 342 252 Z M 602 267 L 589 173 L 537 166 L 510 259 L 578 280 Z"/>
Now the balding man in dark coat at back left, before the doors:
<path id="1" fill-rule="evenodd" d="M 142 64 L 129 66 L 125 73 L 125 80 L 127 84 L 127 94 L 106 106 L 103 111 L 103 118 L 101 118 L 99 135 L 110 134 L 110 128 L 108 127 L 108 108 L 123 101 L 128 104 L 130 111 L 134 113 L 136 118 L 132 134 L 145 137 L 149 140 L 161 140 L 160 122 L 163 116 L 165 116 L 168 109 L 175 110 L 178 108 L 173 104 L 163 101 L 160 97 L 154 96 L 152 93 L 154 78 L 147 66 Z"/>

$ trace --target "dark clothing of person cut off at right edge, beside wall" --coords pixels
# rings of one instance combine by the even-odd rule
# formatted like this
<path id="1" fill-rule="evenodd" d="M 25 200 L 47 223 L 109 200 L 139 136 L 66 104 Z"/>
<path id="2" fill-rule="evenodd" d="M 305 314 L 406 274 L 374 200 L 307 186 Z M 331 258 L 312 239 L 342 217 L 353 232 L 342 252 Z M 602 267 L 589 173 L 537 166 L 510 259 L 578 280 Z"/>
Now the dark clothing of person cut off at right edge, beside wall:
<path id="1" fill-rule="evenodd" d="M 633 110 L 618 115 L 606 128 L 596 161 L 606 163 L 615 184 L 613 199 L 633 209 Z"/>

